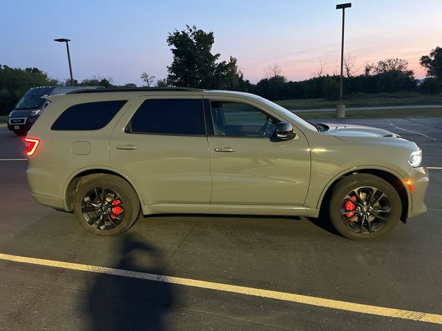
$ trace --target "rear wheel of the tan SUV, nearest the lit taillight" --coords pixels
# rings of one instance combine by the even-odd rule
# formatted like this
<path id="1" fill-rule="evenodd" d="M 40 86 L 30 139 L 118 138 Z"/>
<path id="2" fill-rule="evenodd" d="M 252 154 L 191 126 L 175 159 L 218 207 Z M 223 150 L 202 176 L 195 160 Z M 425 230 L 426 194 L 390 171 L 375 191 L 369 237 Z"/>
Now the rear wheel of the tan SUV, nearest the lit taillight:
<path id="1" fill-rule="evenodd" d="M 79 183 L 74 212 L 88 232 L 98 236 L 117 236 L 135 223 L 140 201 L 127 181 L 111 174 L 94 174 Z"/>

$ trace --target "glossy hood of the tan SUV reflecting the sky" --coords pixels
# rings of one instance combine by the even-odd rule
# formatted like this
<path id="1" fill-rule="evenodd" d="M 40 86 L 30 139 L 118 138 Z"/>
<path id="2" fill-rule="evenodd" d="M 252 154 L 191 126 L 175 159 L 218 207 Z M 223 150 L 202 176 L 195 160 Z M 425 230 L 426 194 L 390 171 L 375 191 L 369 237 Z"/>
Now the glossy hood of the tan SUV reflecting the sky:
<path id="1" fill-rule="evenodd" d="M 373 128 L 372 126 L 354 126 L 352 124 L 336 124 L 336 123 L 323 123 L 325 128 L 328 127 L 327 132 L 333 134 L 336 137 L 343 137 L 344 140 L 347 137 L 390 137 L 399 138 L 398 134 L 383 130 L 379 128 Z"/>

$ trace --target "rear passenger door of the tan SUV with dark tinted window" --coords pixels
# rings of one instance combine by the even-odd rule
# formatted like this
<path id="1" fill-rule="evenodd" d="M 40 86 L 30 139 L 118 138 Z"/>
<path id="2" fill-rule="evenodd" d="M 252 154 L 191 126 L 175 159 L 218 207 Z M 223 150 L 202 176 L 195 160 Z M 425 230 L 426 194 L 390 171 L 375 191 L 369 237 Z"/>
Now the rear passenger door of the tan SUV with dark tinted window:
<path id="1" fill-rule="evenodd" d="M 201 96 L 140 97 L 113 131 L 111 165 L 144 205 L 210 203 L 209 152 Z"/>

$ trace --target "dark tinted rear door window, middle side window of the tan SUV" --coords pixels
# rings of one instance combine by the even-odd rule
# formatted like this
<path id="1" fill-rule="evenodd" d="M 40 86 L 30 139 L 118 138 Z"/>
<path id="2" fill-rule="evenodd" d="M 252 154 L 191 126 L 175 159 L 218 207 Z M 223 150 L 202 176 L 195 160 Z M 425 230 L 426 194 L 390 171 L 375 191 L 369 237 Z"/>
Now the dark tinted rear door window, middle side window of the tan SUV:
<path id="1" fill-rule="evenodd" d="M 202 99 L 149 99 L 133 115 L 126 132 L 206 134 Z"/>

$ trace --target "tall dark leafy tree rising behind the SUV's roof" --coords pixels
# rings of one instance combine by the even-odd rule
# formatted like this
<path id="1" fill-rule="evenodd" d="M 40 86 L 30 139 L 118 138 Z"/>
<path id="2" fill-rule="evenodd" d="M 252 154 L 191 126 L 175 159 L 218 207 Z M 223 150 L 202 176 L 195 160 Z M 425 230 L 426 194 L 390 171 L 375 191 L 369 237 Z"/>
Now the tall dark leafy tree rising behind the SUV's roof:
<path id="1" fill-rule="evenodd" d="M 214 41 L 213 32 L 195 26 L 169 33 L 167 44 L 171 46 L 173 61 L 167 67 L 167 85 L 213 89 L 238 85 L 236 59 L 230 57 L 228 62 L 217 63 L 220 53 L 211 53 Z"/>

